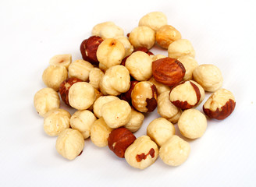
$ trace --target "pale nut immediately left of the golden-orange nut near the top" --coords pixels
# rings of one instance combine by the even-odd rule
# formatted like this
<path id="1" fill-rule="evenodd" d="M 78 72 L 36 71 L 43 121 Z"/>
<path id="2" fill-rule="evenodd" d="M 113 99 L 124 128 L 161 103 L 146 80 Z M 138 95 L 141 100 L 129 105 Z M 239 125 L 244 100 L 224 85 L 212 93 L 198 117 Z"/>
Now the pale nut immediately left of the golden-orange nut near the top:
<path id="1" fill-rule="evenodd" d="M 155 31 L 148 26 L 137 26 L 129 35 L 130 44 L 134 48 L 152 48 L 155 44 Z"/>

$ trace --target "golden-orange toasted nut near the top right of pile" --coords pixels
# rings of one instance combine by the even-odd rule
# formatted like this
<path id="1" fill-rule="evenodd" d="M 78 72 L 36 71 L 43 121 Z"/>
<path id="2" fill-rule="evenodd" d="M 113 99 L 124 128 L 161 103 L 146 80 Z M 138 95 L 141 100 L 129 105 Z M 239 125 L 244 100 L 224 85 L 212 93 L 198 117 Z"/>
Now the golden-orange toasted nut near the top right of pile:
<path id="1" fill-rule="evenodd" d="M 173 41 L 181 39 L 181 34 L 176 28 L 170 25 L 161 26 L 156 30 L 155 41 L 162 48 L 168 48 Z"/>

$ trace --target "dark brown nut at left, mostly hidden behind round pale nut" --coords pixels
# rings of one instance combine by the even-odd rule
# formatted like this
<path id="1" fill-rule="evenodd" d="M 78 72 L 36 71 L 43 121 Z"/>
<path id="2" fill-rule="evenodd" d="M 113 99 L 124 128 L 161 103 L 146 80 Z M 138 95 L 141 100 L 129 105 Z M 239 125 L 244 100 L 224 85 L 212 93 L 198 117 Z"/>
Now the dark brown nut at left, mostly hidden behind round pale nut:
<path id="1" fill-rule="evenodd" d="M 75 77 L 72 77 L 72 78 L 69 78 L 69 79 L 66 79 L 64 80 L 60 86 L 59 86 L 59 94 L 60 94 L 60 97 L 62 97 L 62 101 L 68 105 L 69 105 L 69 88 L 74 84 L 74 83 L 77 83 L 77 82 L 83 82 L 83 80 L 81 79 L 77 79 Z"/>

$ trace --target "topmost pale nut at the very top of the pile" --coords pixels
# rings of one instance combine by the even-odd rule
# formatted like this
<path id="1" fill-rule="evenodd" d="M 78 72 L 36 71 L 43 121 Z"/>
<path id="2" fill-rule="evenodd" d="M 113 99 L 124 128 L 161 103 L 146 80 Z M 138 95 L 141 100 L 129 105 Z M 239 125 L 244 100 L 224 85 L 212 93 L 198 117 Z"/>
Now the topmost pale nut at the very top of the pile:
<path id="1" fill-rule="evenodd" d="M 139 26 L 149 26 L 155 31 L 164 25 L 167 25 L 167 17 L 163 12 L 149 12 L 139 21 Z"/>

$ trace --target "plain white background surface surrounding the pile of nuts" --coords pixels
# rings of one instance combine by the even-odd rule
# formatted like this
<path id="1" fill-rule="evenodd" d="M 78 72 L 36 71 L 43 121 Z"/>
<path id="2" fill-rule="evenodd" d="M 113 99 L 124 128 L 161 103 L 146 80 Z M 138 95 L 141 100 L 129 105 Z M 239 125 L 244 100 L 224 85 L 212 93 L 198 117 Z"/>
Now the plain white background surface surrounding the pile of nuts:
<path id="1" fill-rule="evenodd" d="M 256 186 L 255 7 L 254 0 L 1 1 L 0 186 Z M 204 136 L 189 141 L 190 157 L 180 167 L 158 157 L 140 171 L 90 139 L 80 157 L 67 161 L 33 105 L 49 59 L 66 53 L 79 59 L 80 43 L 97 23 L 113 21 L 127 34 L 153 11 L 164 12 L 191 41 L 199 64 L 222 70 L 235 111 L 224 121 L 208 120 Z M 135 135 L 144 135 L 158 116 L 147 115 Z"/>

